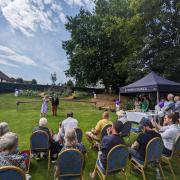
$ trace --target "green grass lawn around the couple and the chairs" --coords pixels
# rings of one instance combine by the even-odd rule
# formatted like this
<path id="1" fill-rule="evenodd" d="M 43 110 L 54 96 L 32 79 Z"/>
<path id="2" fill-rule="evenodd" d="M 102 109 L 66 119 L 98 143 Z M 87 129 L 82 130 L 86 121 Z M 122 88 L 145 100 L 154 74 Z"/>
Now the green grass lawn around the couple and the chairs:
<path id="1" fill-rule="evenodd" d="M 38 124 L 40 117 L 40 107 L 41 103 L 33 104 L 21 104 L 19 111 L 16 110 L 16 101 L 17 100 L 34 100 L 29 97 L 18 97 L 15 98 L 13 94 L 0 94 L 0 121 L 8 122 L 11 131 L 16 132 L 19 136 L 19 149 L 29 149 L 29 139 L 32 133 L 34 126 Z M 40 100 L 40 99 L 39 99 Z M 58 116 L 52 117 L 49 109 L 47 116 L 48 127 L 52 128 L 54 132 L 58 131 L 58 123 L 65 119 L 66 113 L 68 111 L 73 111 L 75 118 L 79 121 L 79 127 L 82 128 L 83 132 L 90 130 L 94 127 L 97 121 L 101 118 L 102 111 L 97 110 L 93 105 L 88 103 L 80 102 L 65 102 L 60 101 L 60 108 L 58 110 Z M 111 113 L 111 120 L 115 119 L 115 114 Z M 135 139 L 135 135 L 132 135 L 132 141 Z M 126 141 L 129 144 L 128 140 Z M 97 152 L 94 152 L 89 149 L 90 145 L 83 137 L 83 143 L 87 148 L 87 157 L 86 157 L 86 167 L 84 170 L 84 179 L 88 180 L 89 172 L 93 170 Z M 172 161 L 173 169 L 177 175 L 177 179 L 180 179 L 180 163 L 177 159 Z M 167 179 L 173 179 L 168 167 L 163 166 L 163 170 Z M 47 171 L 47 162 L 46 161 L 32 161 L 30 167 L 30 174 L 32 180 L 48 180 L 53 179 L 53 166 L 48 173 Z M 136 180 L 142 179 L 142 176 L 138 173 L 133 172 L 129 173 L 129 166 L 127 165 L 127 174 L 128 179 Z M 148 179 L 156 179 L 155 168 L 149 167 L 146 171 L 146 177 Z M 97 178 L 98 179 L 98 178 Z M 123 179 L 122 175 L 115 175 L 108 178 L 109 180 L 118 180 Z"/>

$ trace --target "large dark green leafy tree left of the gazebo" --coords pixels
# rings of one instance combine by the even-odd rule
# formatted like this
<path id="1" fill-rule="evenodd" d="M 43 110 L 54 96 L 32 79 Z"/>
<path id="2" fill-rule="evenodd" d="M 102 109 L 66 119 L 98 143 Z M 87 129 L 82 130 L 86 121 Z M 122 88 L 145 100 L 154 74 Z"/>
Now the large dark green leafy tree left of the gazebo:
<path id="1" fill-rule="evenodd" d="M 117 86 L 121 83 L 114 70 L 114 63 L 123 56 L 126 49 L 119 32 L 113 28 L 121 23 L 121 19 L 104 16 L 104 11 L 98 10 L 106 9 L 106 3 L 103 2 L 97 2 L 95 14 L 81 9 L 74 18 L 68 17 L 66 29 L 71 33 L 71 39 L 63 43 L 63 48 L 70 64 L 67 75 L 74 77 L 78 84 L 102 81 L 108 88 L 109 85 Z"/>

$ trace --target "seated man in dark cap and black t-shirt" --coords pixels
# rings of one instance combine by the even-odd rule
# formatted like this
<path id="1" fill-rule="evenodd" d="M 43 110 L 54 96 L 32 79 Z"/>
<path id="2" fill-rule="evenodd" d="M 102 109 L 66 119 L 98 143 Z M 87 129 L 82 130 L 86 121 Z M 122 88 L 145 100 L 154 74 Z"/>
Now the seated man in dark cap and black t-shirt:
<path id="1" fill-rule="evenodd" d="M 148 142 L 155 137 L 161 136 L 153 130 L 153 125 L 148 118 L 141 120 L 140 128 L 143 129 L 143 133 L 139 134 L 136 141 L 132 144 L 131 148 L 129 148 L 129 153 L 132 157 L 144 161 Z"/>

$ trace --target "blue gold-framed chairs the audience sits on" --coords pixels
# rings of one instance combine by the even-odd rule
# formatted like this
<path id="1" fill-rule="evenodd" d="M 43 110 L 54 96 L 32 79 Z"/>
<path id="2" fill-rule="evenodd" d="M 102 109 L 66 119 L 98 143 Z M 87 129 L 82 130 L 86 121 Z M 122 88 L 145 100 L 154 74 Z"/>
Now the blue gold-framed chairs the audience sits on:
<path id="1" fill-rule="evenodd" d="M 103 128 L 101 132 L 101 138 L 107 135 L 108 127 L 110 126 L 107 125 Z M 77 132 L 78 141 L 81 142 L 82 130 L 78 128 L 76 132 Z M 131 164 L 135 166 L 142 173 L 144 180 L 146 179 L 144 174 L 144 169 L 151 162 L 156 162 L 158 164 L 160 171 L 163 175 L 163 178 L 165 179 L 162 166 L 160 163 L 161 161 L 168 163 L 170 170 L 173 174 L 173 178 L 175 179 L 175 174 L 172 169 L 170 160 L 175 152 L 178 153 L 180 152 L 180 136 L 177 138 L 171 157 L 162 156 L 162 149 L 163 149 L 162 140 L 160 138 L 154 138 L 147 145 L 145 161 L 139 161 L 138 159 L 132 158 Z M 45 151 L 48 152 L 48 169 L 49 169 L 50 168 L 49 136 L 44 131 L 34 132 L 31 136 L 31 152 L 45 152 Z M 129 153 L 127 147 L 124 145 L 118 145 L 108 153 L 106 170 L 100 168 L 98 162 L 96 163 L 95 170 L 97 174 L 101 177 L 101 179 L 106 179 L 106 176 L 119 171 L 123 172 L 124 176 L 127 179 L 125 166 L 128 156 Z M 73 177 L 76 176 L 82 179 L 83 164 L 84 164 L 84 157 L 78 150 L 71 149 L 71 150 L 63 151 L 62 153 L 60 153 L 58 158 L 60 179 L 64 176 L 73 176 Z M 7 175 L 10 176 L 10 178 L 7 178 Z M 2 180 L 24 179 L 24 172 L 17 167 L 12 167 L 12 166 L 2 167 L 0 168 L 0 179 Z"/>

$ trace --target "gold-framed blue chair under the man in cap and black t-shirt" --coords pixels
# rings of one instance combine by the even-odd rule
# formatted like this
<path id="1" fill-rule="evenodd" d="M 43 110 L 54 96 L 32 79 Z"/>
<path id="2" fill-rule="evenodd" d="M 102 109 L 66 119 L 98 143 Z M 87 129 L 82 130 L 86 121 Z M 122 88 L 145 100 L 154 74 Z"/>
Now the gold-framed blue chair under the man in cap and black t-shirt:
<path id="1" fill-rule="evenodd" d="M 145 155 L 144 161 L 141 161 L 134 157 L 131 158 L 131 164 L 142 173 L 144 180 L 146 180 L 144 169 L 150 163 L 156 163 L 159 165 L 163 179 L 165 179 L 163 169 L 161 166 L 161 155 L 162 155 L 163 148 L 164 148 L 164 144 L 163 144 L 162 139 L 159 137 L 156 137 L 156 138 L 151 139 L 149 143 L 147 144 L 146 155 Z"/>

